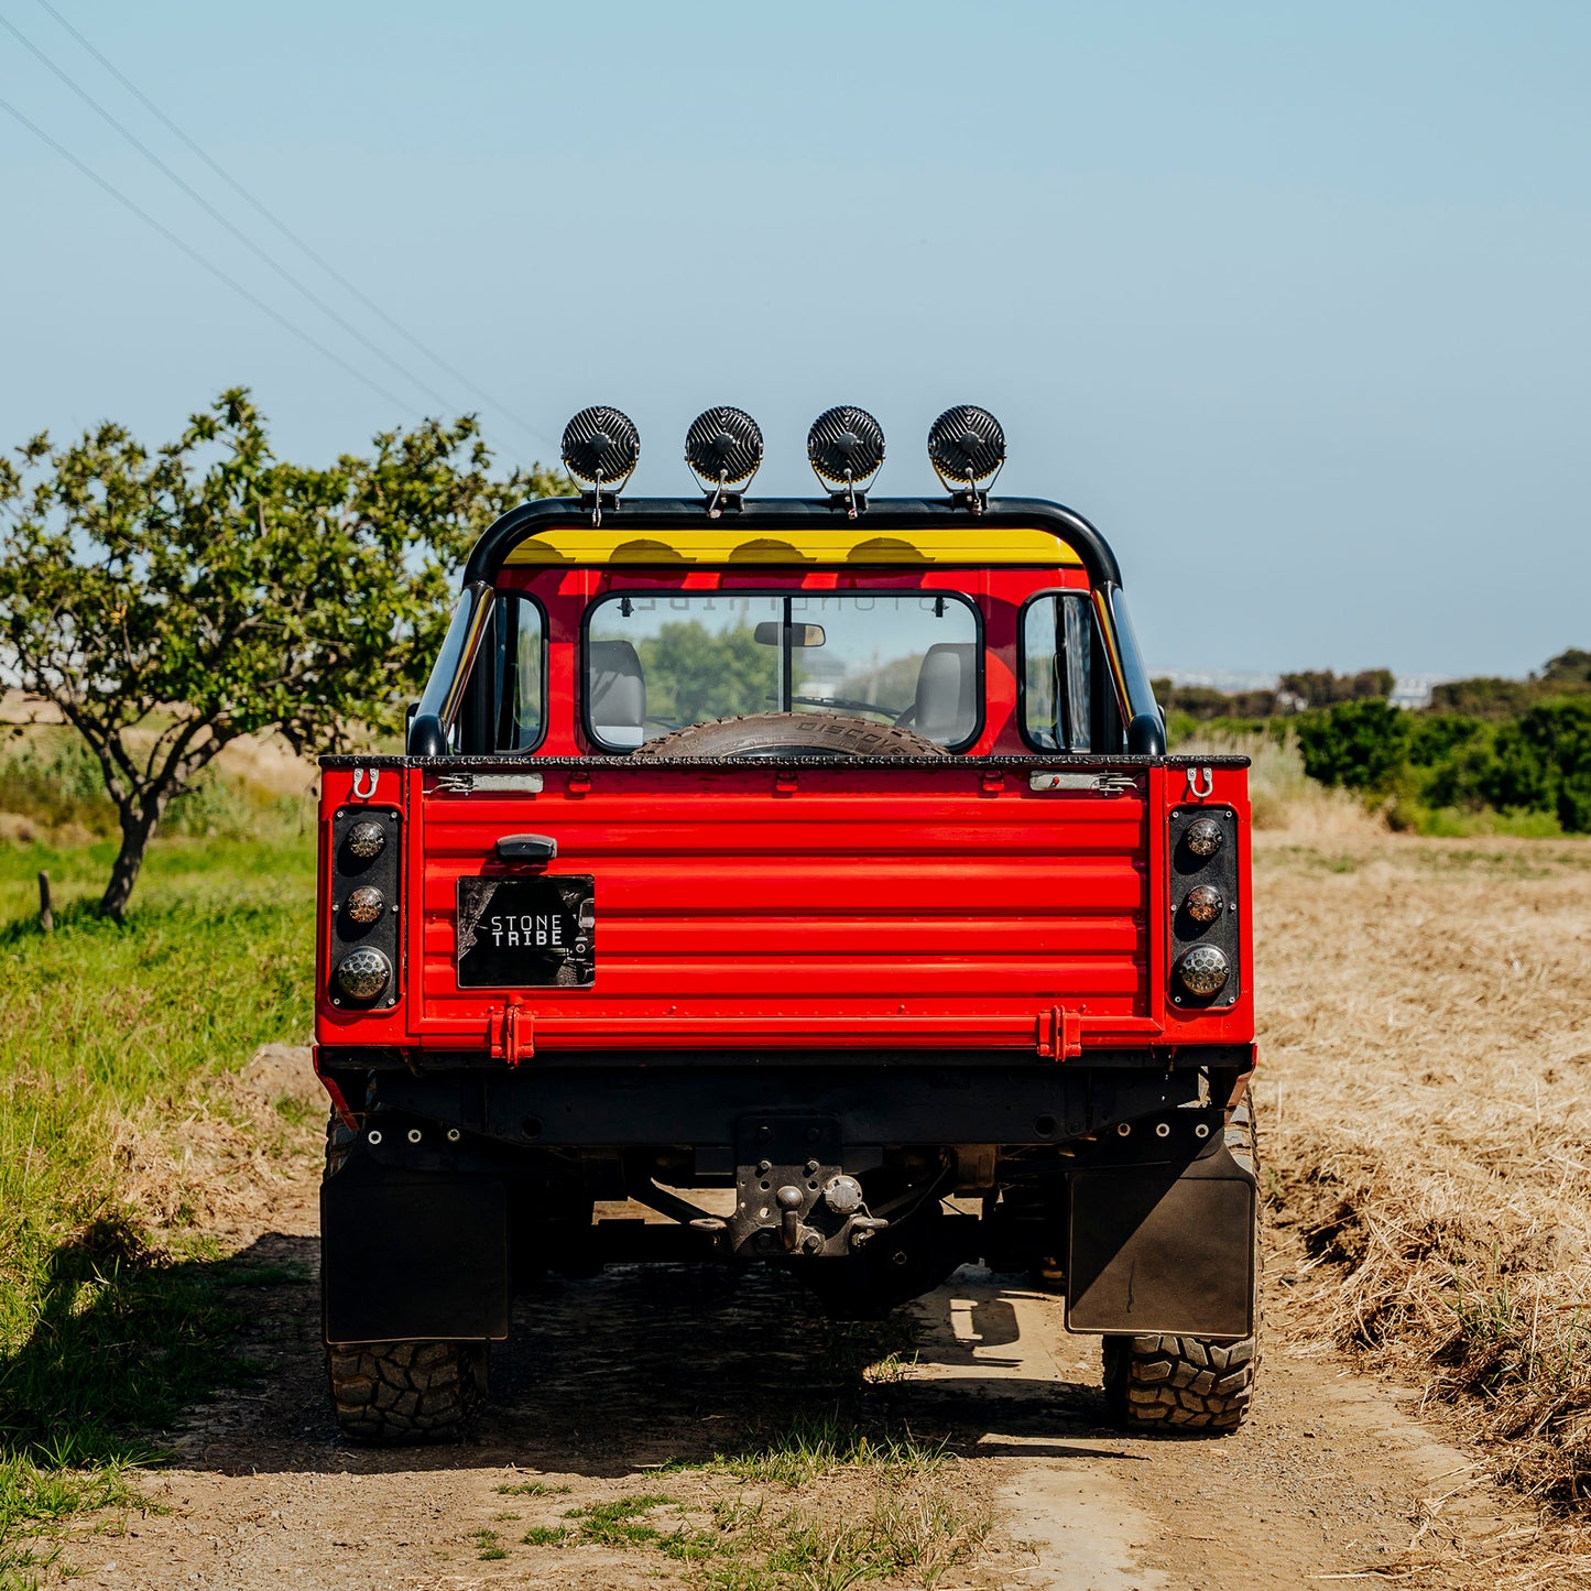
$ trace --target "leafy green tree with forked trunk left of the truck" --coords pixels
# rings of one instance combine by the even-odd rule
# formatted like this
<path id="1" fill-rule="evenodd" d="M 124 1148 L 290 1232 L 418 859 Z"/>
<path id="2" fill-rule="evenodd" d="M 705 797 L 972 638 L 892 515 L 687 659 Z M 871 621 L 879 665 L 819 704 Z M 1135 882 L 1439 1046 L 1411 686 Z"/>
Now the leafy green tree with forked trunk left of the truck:
<path id="1" fill-rule="evenodd" d="M 401 725 L 445 625 L 447 574 L 503 509 L 469 417 L 383 431 L 328 468 L 270 452 L 234 388 L 146 450 L 118 425 L 0 458 L 0 649 L 99 762 L 121 918 L 172 799 L 239 735 L 342 749 Z"/>

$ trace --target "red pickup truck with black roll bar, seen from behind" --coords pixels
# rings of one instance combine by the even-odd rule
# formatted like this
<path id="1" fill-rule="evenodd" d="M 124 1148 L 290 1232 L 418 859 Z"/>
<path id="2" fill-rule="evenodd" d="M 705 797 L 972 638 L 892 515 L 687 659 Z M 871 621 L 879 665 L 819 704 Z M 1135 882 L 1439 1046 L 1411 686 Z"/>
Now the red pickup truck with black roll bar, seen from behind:
<path id="1" fill-rule="evenodd" d="M 1236 1427 L 1246 759 L 1166 754 L 1072 511 L 722 485 L 506 514 L 406 754 L 323 759 L 342 1429 L 458 1435 L 517 1274 L 646 1260 L 1039 1273 L 1114 1418 Z"/>

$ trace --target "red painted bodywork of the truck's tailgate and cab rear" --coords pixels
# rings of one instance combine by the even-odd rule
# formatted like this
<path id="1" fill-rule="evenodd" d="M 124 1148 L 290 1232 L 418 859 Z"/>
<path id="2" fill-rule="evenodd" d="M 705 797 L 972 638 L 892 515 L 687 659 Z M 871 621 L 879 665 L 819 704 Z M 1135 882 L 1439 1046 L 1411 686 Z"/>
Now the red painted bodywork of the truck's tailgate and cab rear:
<path id="1" fill-rule="evenodd" d="M 1246 772 L 1206 786 L 1163 760 L 1128 767 L 1123 794 L 1034 791 L 1044 757 L 1018 732 L 1017 627 L 1036 592 L 1087 589 L 1076 568 L 904 571 L 748 568 L 504 570 L 547 619 L 547 733 L 539 794 L 455 794 L 441 772 L 380 765 L 372 805 L 403 813 L 401 998 L 348 1012 L 328 996 L 331 815 L 355 772 L 321 792 L 320 990 L 326 1045 L 543 1052 L 609 1048 L 1004 1048 L 1063 1061 L 1080 1047 L 1246 1044 L 1252 950 L 1239 901 L 1241 994 L 1181 1012 L 1171 975 L 1173 808 L 1236 815 L 1249 877 Z M 955 590 L 985 643 L 977 743 L 939 765 L 729 764 L 593 757 L 579 727 L 581 622 L 606 592 Z M 1028 767 L 988 759 L 1026 757 Z M 1111 759 L 1101 759 L 1109 764 Z M 1196 786 L 1196 789 L 1195 789 Z M 468 990 L 455 977 L 455 885 L 492 870 L 503 834 L 555 835 L 550 873 L 597 880 L 597 982 L 579 990 Z"/>

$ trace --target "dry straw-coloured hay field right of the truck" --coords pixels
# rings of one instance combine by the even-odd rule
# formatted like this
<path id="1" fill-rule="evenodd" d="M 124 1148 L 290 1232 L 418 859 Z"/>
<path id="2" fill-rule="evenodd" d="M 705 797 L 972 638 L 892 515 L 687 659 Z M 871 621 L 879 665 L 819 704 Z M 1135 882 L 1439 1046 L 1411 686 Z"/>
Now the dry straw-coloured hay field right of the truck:
<path id="1" fill-rule="evenodd" d="M 1258 772 L 1258 770 L 1257 770 Z M 1316 792 L 1255 837 L 1257 1096 L 1284 1335 L 1591 1480 L 1591 842 L 1391 835 Z"/>

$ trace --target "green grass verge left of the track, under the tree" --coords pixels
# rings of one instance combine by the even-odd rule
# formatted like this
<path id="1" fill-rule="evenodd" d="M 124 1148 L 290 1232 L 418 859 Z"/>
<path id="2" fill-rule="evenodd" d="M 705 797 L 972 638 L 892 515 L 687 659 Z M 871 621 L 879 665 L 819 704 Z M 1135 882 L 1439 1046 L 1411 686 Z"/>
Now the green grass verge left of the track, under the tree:
<path id="1" fill-rule="evenodd" d="M 207 1072 L 310 1029 L 307 838 L 158 842 L 123 926 L 92 912 L 111 854 L 0 845 L 0 1564 L 248 1375 L 232 1292 L 258 1278 L 185 1230 L 180 1200 L 156 1231 L 129 1173 L 140 1144 L 154 1176 L 180 1161 Z"/>

